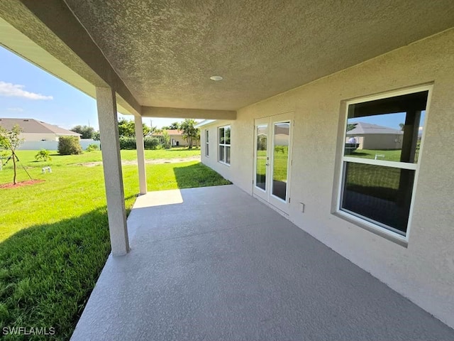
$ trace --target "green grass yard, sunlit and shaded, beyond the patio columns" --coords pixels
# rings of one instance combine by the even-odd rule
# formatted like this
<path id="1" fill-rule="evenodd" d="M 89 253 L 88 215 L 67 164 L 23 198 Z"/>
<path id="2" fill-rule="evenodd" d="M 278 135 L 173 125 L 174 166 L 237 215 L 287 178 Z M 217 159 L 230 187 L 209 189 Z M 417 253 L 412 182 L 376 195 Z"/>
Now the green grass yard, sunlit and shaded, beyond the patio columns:
<path id="1" fill-rule="evenodd" d="M 0 189 L 0 325 L 55 328 L 55 335 L 6 335 L 3 340 L 69 340 L 110 252 L 101 161 L 93 151 L 52 155 L 35 162 L 36 151 L 18 151 L 18 180 L 43 179 L 22 188 Z M 145 158 L 184 158 L 199 150 L 145 151 Z M 122 151 L 123 160 L 135 151 Z M 52 173 L 41 174 L 43 166 Z M 12 181 L 9 163 L 0 184 Z M 148 164 L 148 190 L 224 185 L 229 182 L 198 161 Z M 126 208 L 138 193 L 137 166 L 123 166 Z"/>

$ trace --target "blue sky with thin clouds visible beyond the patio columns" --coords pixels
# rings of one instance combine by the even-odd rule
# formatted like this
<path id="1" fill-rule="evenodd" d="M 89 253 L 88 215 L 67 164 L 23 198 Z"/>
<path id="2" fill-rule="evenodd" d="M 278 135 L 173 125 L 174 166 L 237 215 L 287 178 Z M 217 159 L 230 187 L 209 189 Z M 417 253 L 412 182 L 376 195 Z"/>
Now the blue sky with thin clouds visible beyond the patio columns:
<path id="1" fill-rule="evenodd" d="M 99 128 L 96 101 L 92 97 L 1 46 L 0 117 L 39 119 L 65 129 L 79 124 Z M 181 120 L 153 119 L 153 126 L 175 121 Z M 150 119 L 143 122 L 150 126 Z"/>

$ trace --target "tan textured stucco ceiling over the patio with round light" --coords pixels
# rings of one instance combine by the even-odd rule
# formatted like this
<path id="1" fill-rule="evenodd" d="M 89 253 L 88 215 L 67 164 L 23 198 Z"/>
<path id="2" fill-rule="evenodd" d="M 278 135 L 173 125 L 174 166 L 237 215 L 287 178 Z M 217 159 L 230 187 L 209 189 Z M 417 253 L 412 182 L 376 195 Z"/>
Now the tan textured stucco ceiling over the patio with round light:
<path id="1" fill-rule="evenodd" d="M 453 0 L 66 3 L 153 107 L 238 109 L 454 26 Z"/>

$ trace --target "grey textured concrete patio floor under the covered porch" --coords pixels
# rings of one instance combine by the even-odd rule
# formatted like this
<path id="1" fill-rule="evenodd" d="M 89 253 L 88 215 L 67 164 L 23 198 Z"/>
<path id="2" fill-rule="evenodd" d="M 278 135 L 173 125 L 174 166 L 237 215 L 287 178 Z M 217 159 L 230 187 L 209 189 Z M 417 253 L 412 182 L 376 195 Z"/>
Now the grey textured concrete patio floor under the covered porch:
<path id="1" fill-rule="evenodd" d="M 235 185 L 138 197 L 128 228 L 72 341 L 454 340 Z"/>

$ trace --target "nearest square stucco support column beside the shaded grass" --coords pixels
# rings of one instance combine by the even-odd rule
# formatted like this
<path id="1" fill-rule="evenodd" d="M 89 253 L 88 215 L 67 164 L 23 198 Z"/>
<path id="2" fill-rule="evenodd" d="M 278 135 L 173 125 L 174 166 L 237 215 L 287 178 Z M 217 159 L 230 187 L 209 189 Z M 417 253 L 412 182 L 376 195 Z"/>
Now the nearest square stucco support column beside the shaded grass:
<path id="1" fill-rule="evenodd" d="M 96 87 L 96 105 L 98 107 L 99 136 L 104 166 L 112 254 L 122 256 L 129 251 L 129 241 L 115 91 L 111 88 Z"/>

